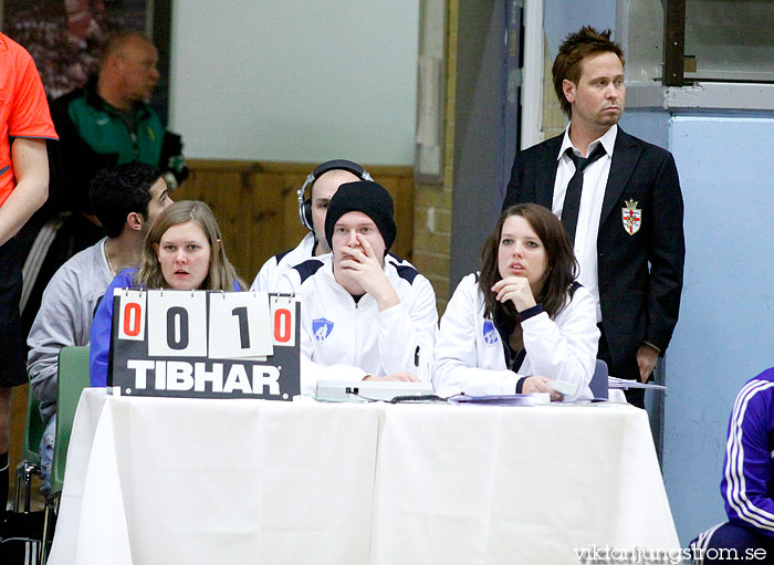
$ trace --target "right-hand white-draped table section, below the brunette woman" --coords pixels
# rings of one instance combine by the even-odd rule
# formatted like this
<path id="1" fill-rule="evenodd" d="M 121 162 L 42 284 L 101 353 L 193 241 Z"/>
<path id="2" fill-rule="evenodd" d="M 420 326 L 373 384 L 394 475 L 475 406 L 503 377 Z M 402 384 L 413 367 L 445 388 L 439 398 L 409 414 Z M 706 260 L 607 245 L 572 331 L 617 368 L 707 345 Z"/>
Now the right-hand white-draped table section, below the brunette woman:
<path id="1" fill-rule="evenodd" d="M 390 407 L 373 564 L 575 564 L 575 550 L 679 548 L 645 410 Z"/>

